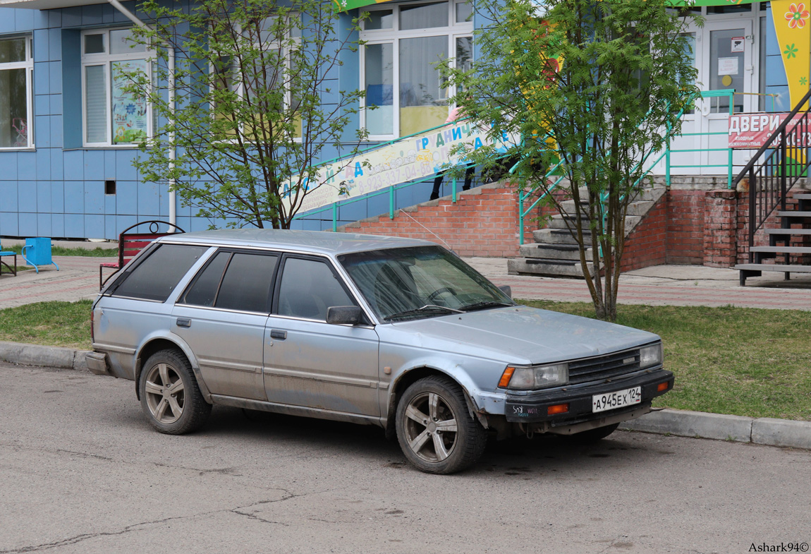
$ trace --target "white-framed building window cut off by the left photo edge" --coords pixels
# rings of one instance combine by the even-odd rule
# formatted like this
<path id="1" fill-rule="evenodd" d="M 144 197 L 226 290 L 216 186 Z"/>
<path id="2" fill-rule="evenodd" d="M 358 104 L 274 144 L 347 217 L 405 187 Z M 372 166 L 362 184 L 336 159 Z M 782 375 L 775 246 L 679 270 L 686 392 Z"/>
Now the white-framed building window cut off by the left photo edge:
<path id="1" fill-rule="evenodd" d="M 0 40 L 0 149 L 33 148 L 31 37 Z"/>

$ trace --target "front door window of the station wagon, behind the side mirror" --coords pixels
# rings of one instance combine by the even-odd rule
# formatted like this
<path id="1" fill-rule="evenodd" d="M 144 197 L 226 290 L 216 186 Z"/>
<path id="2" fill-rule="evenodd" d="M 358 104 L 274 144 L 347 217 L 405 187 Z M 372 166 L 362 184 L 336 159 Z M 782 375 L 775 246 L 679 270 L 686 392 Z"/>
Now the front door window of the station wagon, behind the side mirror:
<path id="1" fill-rule="evenodd" d="M 324 262 L 288 258 L 281 274 L 279 315 L 327 320 L 327 308 L 357 306 Z"/>

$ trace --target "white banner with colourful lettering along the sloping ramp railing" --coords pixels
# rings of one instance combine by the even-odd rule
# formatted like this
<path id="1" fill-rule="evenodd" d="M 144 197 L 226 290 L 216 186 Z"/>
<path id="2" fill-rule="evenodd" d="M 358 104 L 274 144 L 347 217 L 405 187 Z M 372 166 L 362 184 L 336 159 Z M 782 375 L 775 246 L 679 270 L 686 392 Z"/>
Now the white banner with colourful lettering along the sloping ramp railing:
<path id="1" fill-rule="evenodd" d="M 311 183 L 307 187 L 299 213 L 417 181 L 443 170 L 446 164 L 464 164 L 460 156 L 451 154 L 458 144 L 478 149 L 493 143 L 487 138 L 487 132 L 461 121 L 371 148 L 354 158 L 333 161 L 323 165 L 315 185 Z M 504 137 L 494 145 L 497 152 L 506 152 L 513 144 Z"/>

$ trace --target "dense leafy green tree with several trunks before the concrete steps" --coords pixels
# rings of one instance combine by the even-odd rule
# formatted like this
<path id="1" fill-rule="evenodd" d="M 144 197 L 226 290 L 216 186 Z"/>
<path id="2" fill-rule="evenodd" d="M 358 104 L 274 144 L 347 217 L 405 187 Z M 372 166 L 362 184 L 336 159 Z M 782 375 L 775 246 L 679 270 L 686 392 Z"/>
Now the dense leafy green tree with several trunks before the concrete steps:
<path id="1" fill-rule="evenodd" d="M 581 245 L 595 311 L 610 320 L 625 216 L 646 175 L 639 162 L 663 149 L 668 129 L 680 133 L 680 113 L 697 93 L 689 43 L 680 34 L 687 22 L 668 3 L 481 0 L 478 13 L 490 24 L 474 37 L 473 69 L 445 70 L 465 91 L 456 101 L 467 116 L 490 127 L 494 139 L 516 137 L 511 153 L 520 187 L 569 215 L 575 212 L 561 202 L 574 200 L 581 217 L 570 231 Z M 470 157 L 493 165 L 492 153 L 480 148 Z M 569 187 L 551 190 L 550 169 Z M 588 243 L 599 245 L 590 258 Z M 603 280 L 589 277 L 601 272 Z"/>

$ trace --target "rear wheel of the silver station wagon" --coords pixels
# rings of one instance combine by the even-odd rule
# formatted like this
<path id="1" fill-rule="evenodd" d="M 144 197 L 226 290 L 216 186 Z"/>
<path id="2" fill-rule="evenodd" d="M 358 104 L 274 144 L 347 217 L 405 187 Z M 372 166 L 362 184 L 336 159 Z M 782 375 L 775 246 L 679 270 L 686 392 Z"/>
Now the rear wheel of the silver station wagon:
<path id="1" fill-rule="evenodd" d="M 161 433 L 182 435 L 203 426 L 211 414 L 191 363 L 180 350 L 152 354 L 139 377 L 141 408 Z"/>

